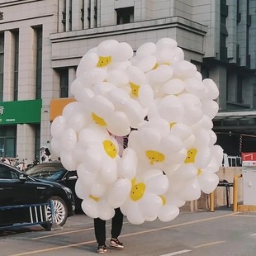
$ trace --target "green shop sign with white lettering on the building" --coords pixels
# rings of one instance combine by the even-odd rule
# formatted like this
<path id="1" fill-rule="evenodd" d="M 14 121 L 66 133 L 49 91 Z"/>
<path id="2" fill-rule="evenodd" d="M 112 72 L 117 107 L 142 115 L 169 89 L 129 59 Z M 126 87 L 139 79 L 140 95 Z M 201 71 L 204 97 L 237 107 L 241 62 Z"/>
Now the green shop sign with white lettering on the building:
<path id="1" fill-rule="evenodd" d="M 0 125 L 41 121 L 42 100 L 0 102 Z"/>

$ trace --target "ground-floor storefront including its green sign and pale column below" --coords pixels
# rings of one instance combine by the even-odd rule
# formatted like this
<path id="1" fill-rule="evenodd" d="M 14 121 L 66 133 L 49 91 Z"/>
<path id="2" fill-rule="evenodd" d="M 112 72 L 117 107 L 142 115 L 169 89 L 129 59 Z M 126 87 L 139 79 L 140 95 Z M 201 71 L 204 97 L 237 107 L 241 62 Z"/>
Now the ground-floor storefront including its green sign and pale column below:
<path id="1" fill-rule="evenodd" d="M 41 108 L 41 99 L 0 103 L 1 157 L 34 158 L 40 147 L 36 138 L 40 138 Z"/>

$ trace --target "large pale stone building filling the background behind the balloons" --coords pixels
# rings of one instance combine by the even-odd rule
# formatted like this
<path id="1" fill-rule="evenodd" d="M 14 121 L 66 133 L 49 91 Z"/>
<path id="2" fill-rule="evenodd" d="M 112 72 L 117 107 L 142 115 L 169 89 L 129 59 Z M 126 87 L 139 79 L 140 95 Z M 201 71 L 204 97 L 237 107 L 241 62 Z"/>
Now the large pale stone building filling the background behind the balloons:
<path id="1" fill-rule="evenodd" d="M 226 116 L 216 117 L 216 131 L 236 132 L 232 121 L 256 106 L 256 0 L 2 0 L 2 157 L 31 163 L 50 147 L 50 123 L 72 101 L 69 86 L 92 47 L 116 39 L 136 50 L 163 37 L 177 40 L 185 59 L 219 86 Z M 254 116 L 244 122 L 253 133 Z"/>

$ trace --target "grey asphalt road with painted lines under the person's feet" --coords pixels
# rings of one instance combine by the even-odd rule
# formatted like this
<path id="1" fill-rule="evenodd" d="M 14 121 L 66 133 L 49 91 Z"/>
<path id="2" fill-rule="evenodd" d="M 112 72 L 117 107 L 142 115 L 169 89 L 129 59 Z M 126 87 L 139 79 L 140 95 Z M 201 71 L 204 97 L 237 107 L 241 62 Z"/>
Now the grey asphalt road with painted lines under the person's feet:
<path id="1" fill-rule="evenodd" d="M 182 212 L 167 223 L 155 220 L 143 225 L 125 220 L 120 239 L 125 249 L 108 249 L 107 255 L 255 256 L 256 213 Z M 0 256 L 90 256 L 96 255 L 96 249 L 92 219 L 83 214 L 70 217 L 63 229 L 33 226 L 0 235 Z"/>

